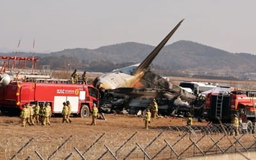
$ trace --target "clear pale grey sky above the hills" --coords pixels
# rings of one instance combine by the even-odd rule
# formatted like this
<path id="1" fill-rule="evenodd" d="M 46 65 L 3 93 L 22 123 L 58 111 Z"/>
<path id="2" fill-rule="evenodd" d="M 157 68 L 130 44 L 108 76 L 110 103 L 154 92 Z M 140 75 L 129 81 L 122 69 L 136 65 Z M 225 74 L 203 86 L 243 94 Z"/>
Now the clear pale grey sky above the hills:
<path id="1" fill-rule="evenodd" d="M 138 42 L 191 40 L 256 54 L 253 0 L 0 0 L 0 51 L 54 52 Z"/>

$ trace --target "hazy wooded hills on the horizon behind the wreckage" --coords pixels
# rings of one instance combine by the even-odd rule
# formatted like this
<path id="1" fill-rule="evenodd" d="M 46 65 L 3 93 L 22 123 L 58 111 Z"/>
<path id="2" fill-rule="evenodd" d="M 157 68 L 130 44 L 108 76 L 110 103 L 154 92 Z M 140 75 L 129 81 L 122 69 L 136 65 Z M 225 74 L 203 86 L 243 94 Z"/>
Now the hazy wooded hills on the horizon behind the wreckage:
<path id="1" fill-rule="evenodd" d="M 97 49 L 65 49 L 49 54 L 36 53 L 38 67 L 50 65 L 52 69 L 70 67 L 81 71 L 109 72 L 113 69 L 140 63 L 154 49 L 154 46 L 127 42 L 99 47 Z M 1 53 L 3 56 L 15 56 L 15 52 Z M 18 56 L 31 57 L 31 53 L 19 52 Z M 172 72 L 255 72 L 256 56 L 248 53 L 231 53 L 180 40 L 166 45 L 152 65 L 161 74 Z"/>

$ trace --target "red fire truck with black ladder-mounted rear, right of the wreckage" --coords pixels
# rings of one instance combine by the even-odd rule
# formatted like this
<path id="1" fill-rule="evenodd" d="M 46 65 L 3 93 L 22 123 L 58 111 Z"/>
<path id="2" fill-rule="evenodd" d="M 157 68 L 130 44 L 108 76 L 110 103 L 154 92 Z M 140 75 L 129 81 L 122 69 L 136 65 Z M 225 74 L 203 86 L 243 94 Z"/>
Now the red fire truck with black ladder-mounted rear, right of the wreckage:
<path id="1" fill-rule="evenodd" d="M 231 116 L 236 114 L 242 120 L 243 129 L 256 131 L 256 92 L 234 91 L 209 93 L 207 95 L 204 117 L 212 122 L 230 123 Z"/>

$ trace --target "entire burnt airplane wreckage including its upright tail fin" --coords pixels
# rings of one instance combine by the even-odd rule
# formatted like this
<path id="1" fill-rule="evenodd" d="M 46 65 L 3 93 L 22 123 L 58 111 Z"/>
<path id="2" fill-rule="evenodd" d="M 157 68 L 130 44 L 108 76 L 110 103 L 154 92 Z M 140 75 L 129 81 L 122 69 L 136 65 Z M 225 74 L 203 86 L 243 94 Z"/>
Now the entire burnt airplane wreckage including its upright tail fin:
<path id="1" fill-rule="evenodd" d="M 184 19 L 170 31 L 159 45 L 148 54 L 142 63 L 113 70 L 94 79 L 93 85 L 100 90 L 101 111 L 137 113 L 148 108 L 152 99 L 157 100 L 159 113 L 176 115 L 191 111 L 202 111 L 204 99 L 186 92 L 150 70 L 150 63 L 179 28 Z M 197 112 L 195 112 L 197 113 Z"/>

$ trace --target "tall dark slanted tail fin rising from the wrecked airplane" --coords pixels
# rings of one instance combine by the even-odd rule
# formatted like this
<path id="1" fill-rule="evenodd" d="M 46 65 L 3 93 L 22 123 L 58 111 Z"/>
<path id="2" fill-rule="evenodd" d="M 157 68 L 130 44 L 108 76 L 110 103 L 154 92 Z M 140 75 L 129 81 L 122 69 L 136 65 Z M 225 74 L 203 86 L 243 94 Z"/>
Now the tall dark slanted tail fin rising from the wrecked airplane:
<path id="1" fill-rule="evenodd" d="M 179 28 L 183 20 L 184 19 L 180 20 L 180 22 L 175 26 L 175 28 L 173 28 L 172 31 L 170 31 L 170 33 L 162 40 L 162 42 L 160 42 L 160 44 L 157 45 L 157 47 L 150 54 L 148 54 L 147 58 L 145 58 L 145 60 L 142 63 L 140 63 L 140 65 L 136 68 L 136 70 L 132 72 L 131 75 L 136 75 L 140 73 L 142 70 L 147 68 L 150 65 L 150 63 L 152 63 L 152 61 L 154 60 L 154 58 L 156 58 L 157 54 L 161 51 L 166 42 L 168 42 L 173 33 L 175 33 L 175 31 Z"/>

